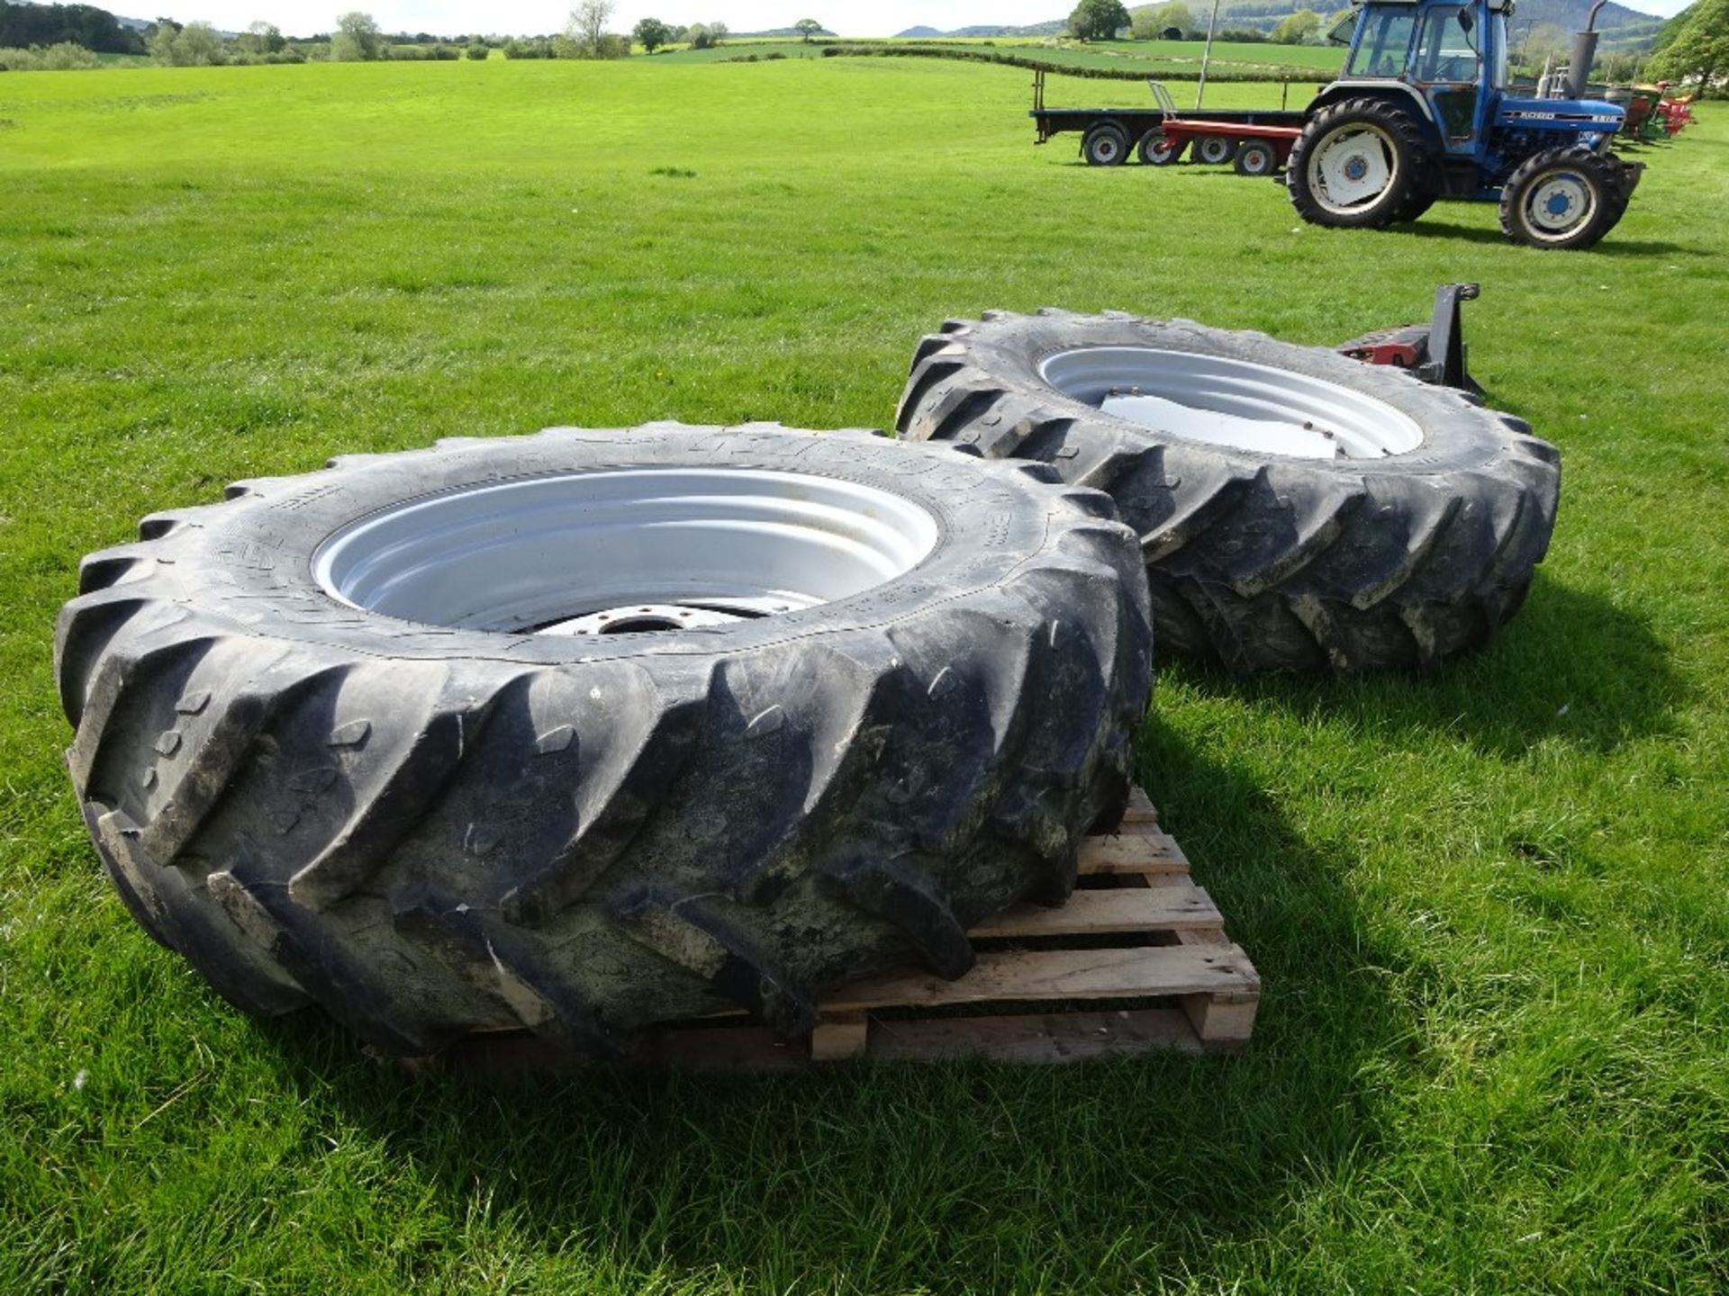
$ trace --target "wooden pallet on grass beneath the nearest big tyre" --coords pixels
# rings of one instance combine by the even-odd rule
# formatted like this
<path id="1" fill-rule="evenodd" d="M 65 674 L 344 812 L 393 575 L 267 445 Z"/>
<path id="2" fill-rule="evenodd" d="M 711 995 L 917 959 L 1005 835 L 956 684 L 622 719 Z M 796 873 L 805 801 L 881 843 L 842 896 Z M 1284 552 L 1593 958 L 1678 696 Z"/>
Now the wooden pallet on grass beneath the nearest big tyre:
<path id="1" fill-rule="evenodd" d="M 852 1058 L 1051 1063 L 1238 1051 L 1255 1021 L 1260 978 L 1188 869 L 1136 791 L 1115 835 L 1082 843 L 1081 885 L 1069 902 L 1025 904 L 975 926 L 979 961 L 960 980 L 913 969 L 840 987 L 821 1001 L 809 1042 L 782 1040 L 743 1016 L 662 1026 L 643 1035 L 636 1059 L 768 1071 Z M 1058 1007 L 1041 1009 L 1048 1004 Z M 531 1037 L 489 1037 L 456 1045 L 446 1061 L 520 1073 L 546 1070 L 550 1058 Z"/>

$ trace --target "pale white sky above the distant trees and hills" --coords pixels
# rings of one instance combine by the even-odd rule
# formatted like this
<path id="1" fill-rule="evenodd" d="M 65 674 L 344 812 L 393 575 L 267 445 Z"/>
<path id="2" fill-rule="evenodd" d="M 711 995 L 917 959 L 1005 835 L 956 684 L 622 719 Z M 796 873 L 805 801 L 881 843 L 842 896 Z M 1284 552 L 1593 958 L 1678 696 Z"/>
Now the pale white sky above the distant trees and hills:
<path id="1" fill-rule="evenodd" d="M 1129 0 L 1134 3 L 1134 0 Z M 1207 0 L 1188 0 L 1200 14 Z M 1646 14 L 1675 14 L 1689 0 L 1630 0 Z M 565 24 L 574 0 L 114 0 L 105 3 L 128 17 L 166 12 L 182 22 L 202 19 L 223 31 L 242 31 L 249 22 L 275 22 L 290 36 L 309 36 L 335 26 L 335 16 L 363 9 L 386 31 L 431 31 L 456 36 L 552 33 Z M 814 17 L 842 36 L 892 36 L 911 26 L 954 28 L 975 24 L 1025 26 L 1063 17 L 1072 0 L 617 0 L 610 26 L 629 31 L 636 19 L 654 16 L 662 22 L 724 22 L 733 31 L 790 28 Z"/>

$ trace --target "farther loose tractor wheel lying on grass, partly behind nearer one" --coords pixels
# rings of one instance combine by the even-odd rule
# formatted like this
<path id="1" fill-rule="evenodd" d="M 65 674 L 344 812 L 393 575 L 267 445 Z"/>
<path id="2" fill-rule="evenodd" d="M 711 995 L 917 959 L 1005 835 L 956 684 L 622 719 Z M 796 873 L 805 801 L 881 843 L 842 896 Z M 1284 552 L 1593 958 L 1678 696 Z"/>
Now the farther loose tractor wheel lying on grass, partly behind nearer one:
<path id="1" fill-rule="evenodd" d="M 1433 669 L 1483 645 L 1560 491 L 1554 448 L 1511 415 L 1186 320 L 951 320 L 920 344 L 897 427 L 1108 491 L 1160 645 L 1236 674 Z"/>

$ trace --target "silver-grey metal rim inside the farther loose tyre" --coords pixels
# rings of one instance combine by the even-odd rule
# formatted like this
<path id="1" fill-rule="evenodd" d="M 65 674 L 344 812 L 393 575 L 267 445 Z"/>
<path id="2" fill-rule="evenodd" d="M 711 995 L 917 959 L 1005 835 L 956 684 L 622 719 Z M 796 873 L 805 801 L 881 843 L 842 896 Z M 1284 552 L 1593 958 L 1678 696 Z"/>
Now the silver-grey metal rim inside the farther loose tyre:
<path id="1" fill-rule="evenodd" d="M 1378 460 L 1423 444 L 1385 401 L 1305 373 L 1162 347 L 1081 347 L 1039 375 L 1063 396 L 1183 441 L 1302 460 Z"/>

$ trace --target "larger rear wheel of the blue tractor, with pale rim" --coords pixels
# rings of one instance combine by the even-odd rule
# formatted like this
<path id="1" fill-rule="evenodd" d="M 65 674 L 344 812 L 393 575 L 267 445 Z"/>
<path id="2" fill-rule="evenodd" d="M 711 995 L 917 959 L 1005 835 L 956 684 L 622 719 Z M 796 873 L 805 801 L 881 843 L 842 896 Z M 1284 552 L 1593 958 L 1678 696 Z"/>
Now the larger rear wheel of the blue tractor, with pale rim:
<path id="1" fill-rule="evenodd" d="M 1428 147 L 1409 112 L 1378 98 L 1347 98 L 1309 118 L 1285 166 L 1292 206 L 1314 225 L 1381 230 L 1414 219 Z"/>

